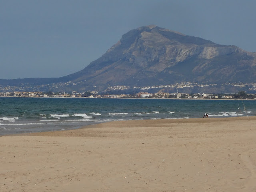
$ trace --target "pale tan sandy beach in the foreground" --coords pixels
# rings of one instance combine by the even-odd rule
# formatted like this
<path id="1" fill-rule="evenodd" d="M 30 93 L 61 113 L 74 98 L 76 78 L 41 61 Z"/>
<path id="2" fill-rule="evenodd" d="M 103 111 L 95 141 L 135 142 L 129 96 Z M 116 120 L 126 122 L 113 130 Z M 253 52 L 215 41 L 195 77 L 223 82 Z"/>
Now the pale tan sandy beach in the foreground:
<path id="1" fill-rule="evenodd" d="M 255 192 L 256 117 L 0 137 L 0 192 Z"/>

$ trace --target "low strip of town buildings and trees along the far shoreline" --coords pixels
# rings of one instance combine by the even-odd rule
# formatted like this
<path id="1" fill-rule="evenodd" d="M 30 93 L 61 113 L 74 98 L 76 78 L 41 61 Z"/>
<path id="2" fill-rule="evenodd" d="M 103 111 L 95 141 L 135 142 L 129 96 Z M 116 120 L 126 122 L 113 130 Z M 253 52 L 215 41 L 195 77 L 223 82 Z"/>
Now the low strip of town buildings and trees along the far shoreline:
<path id="1" fill-rule="evenodd" d="M 237 94 L 206 94 L 206 93 L 148 93 L 134 94 L 98 94 L 98 92 L 0 92 L 1 97 L 36 97 L 36 98 L 180 98 L 180 99 L 256 99 L 256 94 L 247 94 L 239 91 Z"/>

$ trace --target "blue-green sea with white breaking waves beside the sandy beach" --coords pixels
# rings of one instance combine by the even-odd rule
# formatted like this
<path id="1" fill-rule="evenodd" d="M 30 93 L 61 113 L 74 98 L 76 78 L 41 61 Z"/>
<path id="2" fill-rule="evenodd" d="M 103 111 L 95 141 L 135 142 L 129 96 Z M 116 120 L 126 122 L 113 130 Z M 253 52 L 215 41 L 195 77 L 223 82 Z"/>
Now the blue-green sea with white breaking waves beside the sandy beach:
<path id="1" fill-rule="evenodd" d="M 244 109 L 244 107 L 246 109 Z M 255 116 L 256 100 L 0 98 L 0 135 L 117 120 Z"/>

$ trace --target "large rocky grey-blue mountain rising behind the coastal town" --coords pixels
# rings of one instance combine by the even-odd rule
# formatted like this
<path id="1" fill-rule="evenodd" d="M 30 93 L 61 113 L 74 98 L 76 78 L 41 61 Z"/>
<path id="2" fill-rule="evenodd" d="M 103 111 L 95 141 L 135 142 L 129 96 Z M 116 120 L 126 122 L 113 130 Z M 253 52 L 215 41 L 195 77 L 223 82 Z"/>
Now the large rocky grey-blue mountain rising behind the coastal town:
<path id="1" fill-rule="evenodd" d="M 150 25 L 124 34 L 79 72 L 0 80 L 0 90 L 253 92 L 255 80 L 256 53 Z"/>

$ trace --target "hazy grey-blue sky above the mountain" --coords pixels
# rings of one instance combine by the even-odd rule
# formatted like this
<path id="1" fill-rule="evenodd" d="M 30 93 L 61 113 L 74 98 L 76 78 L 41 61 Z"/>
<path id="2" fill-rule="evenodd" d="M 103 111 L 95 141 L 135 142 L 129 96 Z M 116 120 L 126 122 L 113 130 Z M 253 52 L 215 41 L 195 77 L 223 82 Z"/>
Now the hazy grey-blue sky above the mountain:
<path id="1" fill-rule="evenodd" d="M 0 0 L 0 79 L 61 77 L 150 24 L 256 52 L 255 0 Z"/>

